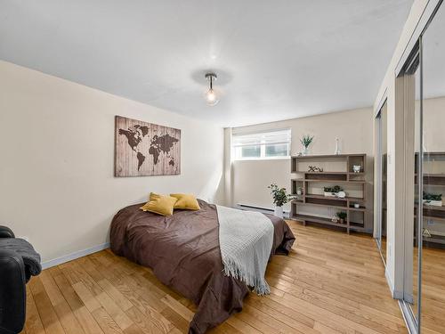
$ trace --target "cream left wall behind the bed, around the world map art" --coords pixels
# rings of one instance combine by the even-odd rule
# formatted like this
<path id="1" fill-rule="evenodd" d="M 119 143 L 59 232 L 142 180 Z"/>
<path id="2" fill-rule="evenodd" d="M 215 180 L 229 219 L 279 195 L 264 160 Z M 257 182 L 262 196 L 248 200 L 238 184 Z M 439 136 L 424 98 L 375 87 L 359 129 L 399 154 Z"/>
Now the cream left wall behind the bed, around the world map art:
<path id="1" fill-rule="evenodd" d="M 114 117 L 182 130 L 182 174 L 113 176 Z M 108 240 L 119 208 L 150 191 L 223 201 L 223 129 L 0 61 L 0 224 L 43 261 Z"/>

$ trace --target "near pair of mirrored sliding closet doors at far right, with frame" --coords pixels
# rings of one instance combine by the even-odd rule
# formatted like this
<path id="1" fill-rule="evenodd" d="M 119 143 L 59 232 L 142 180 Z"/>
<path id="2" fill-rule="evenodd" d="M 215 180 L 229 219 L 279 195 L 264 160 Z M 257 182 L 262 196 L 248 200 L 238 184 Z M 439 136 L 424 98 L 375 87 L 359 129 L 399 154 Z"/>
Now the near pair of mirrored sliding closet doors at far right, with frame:
<path id="1" fill-rule="evenodd" d="M 412 203 L 405 211 L 401 304 L 415 333 L 445 333 L 444 34 L 445 9 L 438 4 L 401 74 L 407 153 L 404 196 Z"/>

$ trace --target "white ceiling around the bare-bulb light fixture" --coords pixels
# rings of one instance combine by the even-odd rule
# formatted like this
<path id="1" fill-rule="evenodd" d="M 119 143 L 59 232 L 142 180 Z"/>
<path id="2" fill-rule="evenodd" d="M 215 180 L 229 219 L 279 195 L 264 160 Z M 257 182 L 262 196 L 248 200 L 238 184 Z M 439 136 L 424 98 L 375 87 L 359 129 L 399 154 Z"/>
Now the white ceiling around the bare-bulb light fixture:
<path id="1" fill-rule="evenodd" d="M 0 0 L 0 59 L 241 126 L 371 106 L 412 2 Z"/>

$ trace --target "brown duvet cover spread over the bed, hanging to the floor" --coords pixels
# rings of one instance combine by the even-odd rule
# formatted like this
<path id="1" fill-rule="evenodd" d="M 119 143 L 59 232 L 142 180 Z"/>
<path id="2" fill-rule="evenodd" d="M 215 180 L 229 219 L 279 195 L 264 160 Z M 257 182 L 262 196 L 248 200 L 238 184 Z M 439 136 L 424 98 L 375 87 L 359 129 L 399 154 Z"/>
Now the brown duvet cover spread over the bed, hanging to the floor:
<path id="1" fill-rule="evenodd" d="M 143 212 L 143 203 L 123 208 L 110 231 L 115 254 L 152 268 L 159 281 L 198 305 L 190 333 L 205 333 L 239 312 L 249 292 L 224 276 L 216 207 L 198 201 L 200 210 L 175 210 L 173 216 Z M 294 234 L 283 219 L 268 217 L 274 226 L 271 256 L 287 254 Z"/>

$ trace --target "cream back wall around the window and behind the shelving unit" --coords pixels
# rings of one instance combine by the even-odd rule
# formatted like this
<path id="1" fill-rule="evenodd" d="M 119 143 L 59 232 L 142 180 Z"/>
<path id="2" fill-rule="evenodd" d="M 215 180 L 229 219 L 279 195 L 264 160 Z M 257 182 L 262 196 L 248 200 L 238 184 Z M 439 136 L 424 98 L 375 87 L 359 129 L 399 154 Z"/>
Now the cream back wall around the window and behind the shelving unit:
<path id="1" fill-rule="evenodd" d="M 300 138 L 304 134 L 314 135 L 311 154 L 334 154 L 336 137 L 340 140 L 343 153 L 366 153 L 368 155 L 367 179 L 368 208 L 372 211 L 373 179 L 373 113 L 371 108 L 347 110 L 308 118 L 295 118 L 256 126 L 233 128 L 233 134 L 290 128 L 292 132 L 291 153 L 301 151 Z M 233 203 L 273 208 L 267 186 L 278 183 L 290 191 L 290 160 L 239 160 L 233 162 Z M 370 191 L 370 192 L 369 192 Z M 287 204 L 287 209 L 289 205 Z M 371 216 L 368 223 L 372 226 Z M 371 227 L 372 228 L 372 227 Z"/>

